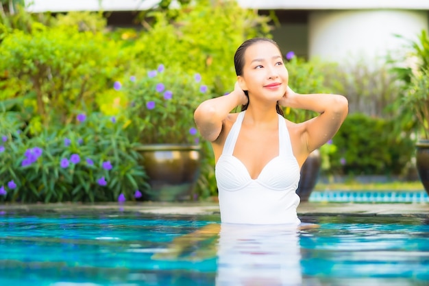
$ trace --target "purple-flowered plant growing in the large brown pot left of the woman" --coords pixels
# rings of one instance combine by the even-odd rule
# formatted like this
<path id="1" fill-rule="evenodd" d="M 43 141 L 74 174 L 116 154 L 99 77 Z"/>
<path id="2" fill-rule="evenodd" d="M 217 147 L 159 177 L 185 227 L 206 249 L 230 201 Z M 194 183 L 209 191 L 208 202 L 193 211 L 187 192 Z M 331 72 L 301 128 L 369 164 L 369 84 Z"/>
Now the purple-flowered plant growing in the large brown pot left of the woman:
<path id="1" fill-rule="evenodd" d="M 132 75 L 124 82 L 114 82 L 113 88 L 127 98 L 121 113 L 133 141 L 199 143 L 193 113 L 208 98 L 208 86 L 199 73 L 191 75 L 160 64 L 141 78 Z"/>

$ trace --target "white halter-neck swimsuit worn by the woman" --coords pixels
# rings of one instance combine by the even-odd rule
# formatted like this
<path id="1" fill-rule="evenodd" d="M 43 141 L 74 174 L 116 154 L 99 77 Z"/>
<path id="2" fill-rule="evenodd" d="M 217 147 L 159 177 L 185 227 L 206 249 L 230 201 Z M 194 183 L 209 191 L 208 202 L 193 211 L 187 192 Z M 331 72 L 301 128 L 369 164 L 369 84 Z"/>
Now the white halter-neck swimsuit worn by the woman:
<path id="1" fill-rule="evenodd" d="M 240 112 L 223 152 L 215 175 L 219 189 L 221 222 L 232 224 L 296 224 L 299 196 L 299 165 L 293 156 L 286 122 L 278 115 L 279 155 L 267 163 L 256 179 L 233 156 L 245 111 Z"/>

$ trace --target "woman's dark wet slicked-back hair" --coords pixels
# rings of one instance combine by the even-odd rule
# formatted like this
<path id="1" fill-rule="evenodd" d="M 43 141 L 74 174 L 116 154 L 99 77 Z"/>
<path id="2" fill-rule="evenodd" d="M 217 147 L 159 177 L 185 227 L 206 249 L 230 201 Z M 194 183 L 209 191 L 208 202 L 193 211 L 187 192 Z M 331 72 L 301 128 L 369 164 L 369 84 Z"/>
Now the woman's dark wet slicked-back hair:
<path id="1" fill-rule="evenodd" d="M 248 47 L 256 44 L 256 43 L 260 43 L 260 42 L 268 42 L 271 43 L 273 45 L 275 45 L 275 47 L 278 48 L 278 50 L 280 51 L 280 47 L 278 45 L 278 43 L 275 42 L 275 40 L 271 40 L 271 38 L 250 38 L 249 40 L 245 40 L 243 42 L 243 44 L 240 45 L 240 47 L 238 47 L 238 49 L 236 50 L 235 54 L 234 54 L 234 67 L 235 67 L 235 73 L 236 75 L 243 75 L 243 67 L 245 64 L 245 59 L 244 59 L 244 54 L 245 51 L 247 50 Z M 281 52 L 280 52 L 281 54 Z M 249 92 L 248 91 L 244 91 L 246 97 L 247 97 L 247 104 L 243 104 L 241 106 L 241 111 L 246 110 L 247 107 L 249 107 Z M 275 110 L 277 111 L 278 114 L 284 116 L 284 112 L 282 110 L 282 108 L 280 107 L 280 104 L 276 104 L 275 106 Z"/>

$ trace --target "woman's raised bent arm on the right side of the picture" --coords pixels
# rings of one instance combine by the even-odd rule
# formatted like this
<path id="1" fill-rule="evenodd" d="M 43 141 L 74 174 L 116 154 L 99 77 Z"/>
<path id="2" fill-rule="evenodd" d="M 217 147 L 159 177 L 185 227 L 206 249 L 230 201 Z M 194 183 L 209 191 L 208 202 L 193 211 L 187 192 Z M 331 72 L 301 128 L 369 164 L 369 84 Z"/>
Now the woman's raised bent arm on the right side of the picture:
<path id="1" fill-rule="evenodd" d="M 332 139 L 348 112 L 348 101 L 343 95 L 300 95 L 289 86 L 280 104 L 319 113 L 319 116 L 302 123 L 302 141 L 306 142 L 308 152 Z"/>

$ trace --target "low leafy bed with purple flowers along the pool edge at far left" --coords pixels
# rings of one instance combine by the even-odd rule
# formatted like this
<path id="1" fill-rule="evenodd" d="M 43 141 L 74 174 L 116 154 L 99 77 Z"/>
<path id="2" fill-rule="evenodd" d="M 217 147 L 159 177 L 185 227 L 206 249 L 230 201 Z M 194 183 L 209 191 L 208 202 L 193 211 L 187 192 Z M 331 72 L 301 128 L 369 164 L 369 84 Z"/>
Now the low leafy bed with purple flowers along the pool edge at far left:
<path id="1" fill-rule="evenodd" d="M 3 200 L 108 202 L 120 194 L 134 200 L 136 189 L 147 189 L 140 155 L 134 151 L 138 144 L 130 142 L 121 124 L 110 117 L 93 114 L 34 137 L 19 132 L 19 122 L 8 112 L 1 113 L 1 122 L 0 134 L 6 140 L 0 153 L 0 186 L 8 191 Z"/>

